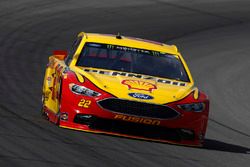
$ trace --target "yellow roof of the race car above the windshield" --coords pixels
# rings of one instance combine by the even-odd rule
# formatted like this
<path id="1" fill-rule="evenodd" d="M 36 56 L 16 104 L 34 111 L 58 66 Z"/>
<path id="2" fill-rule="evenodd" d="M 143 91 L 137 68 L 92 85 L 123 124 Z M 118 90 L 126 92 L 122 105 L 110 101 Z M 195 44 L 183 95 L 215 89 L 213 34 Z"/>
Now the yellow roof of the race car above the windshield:
<path id="1" fill-rule="evenodd" d="M 120 46 L 127 46 L 133 48 L 155 50 L 160 52 L 166 52 L 176 54 L 178 52 L 175 45 L 167 45 L 160 42 L 150 41 L 141 38 L 127 37 L 121 35 L 111 34 L 97 34 L 97 33 L 79 33 L 78 36 L 85 36 L 87 42 L 106 43 Z"/>

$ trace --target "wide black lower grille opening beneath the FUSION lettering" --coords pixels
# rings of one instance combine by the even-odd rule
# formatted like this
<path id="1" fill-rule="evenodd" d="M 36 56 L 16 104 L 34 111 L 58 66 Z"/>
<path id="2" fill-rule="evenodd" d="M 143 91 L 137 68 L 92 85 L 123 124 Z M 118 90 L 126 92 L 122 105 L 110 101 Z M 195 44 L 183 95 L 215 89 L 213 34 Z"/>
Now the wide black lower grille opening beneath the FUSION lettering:
<path id="1" fill-rule="evenodd" d="M 109 120 L 95 116 L 77 114 L 75 123 L 88 125 L 90 129 L 102 130 L 107 132 L 115 132 L 131 136 L 140 136 L 152 139 L 162 140 L 194 140 L 194 133 L 185 133 L 181 129 L 166 128 L 161 126 L 152 126 L 145 124 L 137 124 L 133 122 L 125 122 L 120 120 Z"/>

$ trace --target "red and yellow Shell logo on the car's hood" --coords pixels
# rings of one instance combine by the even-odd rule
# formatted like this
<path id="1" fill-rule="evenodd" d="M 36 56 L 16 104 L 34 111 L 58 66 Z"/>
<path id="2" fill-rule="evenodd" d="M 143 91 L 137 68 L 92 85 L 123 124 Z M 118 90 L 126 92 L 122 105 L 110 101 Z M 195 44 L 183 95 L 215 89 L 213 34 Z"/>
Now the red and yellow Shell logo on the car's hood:
<path id="1" fill-rule="evenodd" d="M 145 90 L 152 92 L 153 89 L 157 89 L 156 85 L 150 82 L 138 81 L 138 80 L 123 80 L 123 85 L 127 85 L 128 89 Z"/>

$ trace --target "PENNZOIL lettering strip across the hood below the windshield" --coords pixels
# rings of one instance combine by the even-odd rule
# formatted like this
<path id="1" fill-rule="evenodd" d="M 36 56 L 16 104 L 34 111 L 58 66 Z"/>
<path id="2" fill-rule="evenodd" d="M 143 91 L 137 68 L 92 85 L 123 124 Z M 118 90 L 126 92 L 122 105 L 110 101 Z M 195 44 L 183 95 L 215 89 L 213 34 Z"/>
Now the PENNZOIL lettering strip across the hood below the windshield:
<path id="1" fill-rule="evenodd" d="M 89 73 L 97 73 L 97 74 L 108 75 L 108 76 L 124 76 L 124 77 L 152 80 L 158 83 L 169 84 L 169 85 L 186 86 L 186 83 L 183 83 L 183 82 L 173 82 L 168 79 L 161 79 L 161 78 L 152 77 L 149 75 L 141 75 L 141 74 L 117 72 L 117 71 L 94 70 L 94 69 L 88 69 L 88 68 L 83 68 L 83 70 Z"/>

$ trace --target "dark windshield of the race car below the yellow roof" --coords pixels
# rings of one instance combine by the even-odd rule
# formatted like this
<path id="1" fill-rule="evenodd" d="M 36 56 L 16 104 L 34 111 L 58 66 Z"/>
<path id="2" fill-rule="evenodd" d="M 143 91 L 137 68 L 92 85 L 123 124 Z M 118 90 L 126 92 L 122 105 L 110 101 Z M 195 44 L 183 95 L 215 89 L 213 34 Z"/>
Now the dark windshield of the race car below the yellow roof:
<path id="1" fill-rule="evenodd" d="M 189 82 L 178 56 L 118 45 L 86 43 L 76 66 L 125 71 Z"/>

